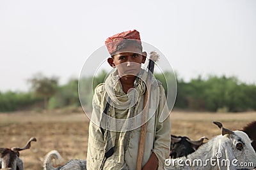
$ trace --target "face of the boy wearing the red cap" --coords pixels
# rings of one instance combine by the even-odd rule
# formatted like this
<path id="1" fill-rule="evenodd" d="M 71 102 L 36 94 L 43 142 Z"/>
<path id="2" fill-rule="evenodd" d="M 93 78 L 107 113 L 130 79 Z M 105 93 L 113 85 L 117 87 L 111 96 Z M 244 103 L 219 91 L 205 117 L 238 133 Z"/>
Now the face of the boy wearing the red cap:
<path id="1" fill-rule="evenodd" d="M 141 49 L 135 45 L 129 45 L 109 58 L 108 63 L 111 67 L 116 66 L 120 77 L 128 78 L 134 77 L 140 72 L 141 63 L 145 63 L 146 57 L 146 52 L 141 52 Z"/>

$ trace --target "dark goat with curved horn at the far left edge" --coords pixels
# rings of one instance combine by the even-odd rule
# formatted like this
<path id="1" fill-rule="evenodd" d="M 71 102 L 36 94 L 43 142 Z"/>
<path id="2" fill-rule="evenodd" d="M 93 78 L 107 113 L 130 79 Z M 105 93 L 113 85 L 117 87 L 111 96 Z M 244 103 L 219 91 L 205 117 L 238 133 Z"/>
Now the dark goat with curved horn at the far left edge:
<path id="1" fill-rule="evenodd" d="M 24 170 L 23 162 L 19 158 L 20 151 L 27 150 L 31 146 L 31 141 L 36 141 L 36 138 L 30 138 L 26 146 L 23 148 L 13 147 L 9 148 L 0 148 L 0 168 L 3 169 L 12 169 L 12 170 Z"/>

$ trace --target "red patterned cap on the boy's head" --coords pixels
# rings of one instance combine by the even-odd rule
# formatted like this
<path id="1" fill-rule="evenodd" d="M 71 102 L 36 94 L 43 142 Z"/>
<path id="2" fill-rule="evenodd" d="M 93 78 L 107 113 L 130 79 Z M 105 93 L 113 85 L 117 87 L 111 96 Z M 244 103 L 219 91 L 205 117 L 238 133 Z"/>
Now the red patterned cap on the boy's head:
<path id="1" fill-rule="evenodd" d="M 141 44 L 140 40 L 140 32 L 136 31 L 125 31 L 118 34 L 115 34 L 105 41 L 105 45 L 108 48 L 109 53 L 113 53 L 116 51 L 118 44 L 120 44 L 124 39 L 136 39 Z"/>

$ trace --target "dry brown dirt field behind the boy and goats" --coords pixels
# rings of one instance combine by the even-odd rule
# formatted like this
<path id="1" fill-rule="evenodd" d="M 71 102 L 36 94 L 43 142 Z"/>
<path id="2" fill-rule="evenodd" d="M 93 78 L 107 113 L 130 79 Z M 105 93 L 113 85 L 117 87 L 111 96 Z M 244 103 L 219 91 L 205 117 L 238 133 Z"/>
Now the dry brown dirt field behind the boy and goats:
<path id="1" fill-rule="evenodd" d="M 256 120 L 256 112 L 246 113 L 194 113 L 173 111 L 172 134 L 198 139 L 220 134 L 213 120 L 230 130 Z M 48 113 L 0 113 L 0 147 L 24 146 L 29 138 L 36 137 L 29 150 L 20 152 L 25 169 L 42 170 L 47 152 L 58 150 L 64 161 L 86 159 L 88 118 L 82 111 L 49 111 Z"/>

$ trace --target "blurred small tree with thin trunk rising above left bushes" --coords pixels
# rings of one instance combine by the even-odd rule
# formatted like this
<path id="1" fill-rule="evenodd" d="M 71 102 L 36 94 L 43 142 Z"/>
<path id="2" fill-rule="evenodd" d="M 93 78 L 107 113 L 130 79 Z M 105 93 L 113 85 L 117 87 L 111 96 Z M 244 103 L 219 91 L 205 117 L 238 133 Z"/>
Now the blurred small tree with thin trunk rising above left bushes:
<path id="1" fill-rule="evenodd" d="M 53 76 L 51 78 L 45 77 L 43 74 L 38 73 L 33 78 L 28 80 L 31 83 L 31 89 L 35 92 L 36 96 L 44 97 L 44 109 L 47 109 L 49 98 L 53 96 L 58 87 L 58 78 Z"/>

